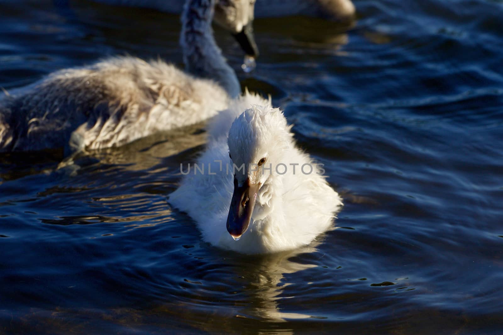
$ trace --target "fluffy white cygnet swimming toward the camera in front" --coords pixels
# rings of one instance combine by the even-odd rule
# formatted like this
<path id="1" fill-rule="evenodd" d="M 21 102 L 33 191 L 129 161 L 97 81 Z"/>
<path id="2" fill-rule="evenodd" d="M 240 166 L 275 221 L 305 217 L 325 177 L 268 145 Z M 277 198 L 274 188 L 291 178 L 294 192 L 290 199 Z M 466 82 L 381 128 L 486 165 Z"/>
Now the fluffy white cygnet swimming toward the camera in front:
<path id="1" fill-rule="evenodd" d="M 331 228 L 341 198 L 295 146 L 290 128 L 279 109 L 250 94 L 212 120 L 197 160 L 206 170 L 183 168 L 187 175 L 170 195 L 206 242 L 245 254 L 275 253 L 308 245 Z M 244 168 L 232 170 L 232 164 Z M 302 166 L 313 170 L 301 172 Z"/>

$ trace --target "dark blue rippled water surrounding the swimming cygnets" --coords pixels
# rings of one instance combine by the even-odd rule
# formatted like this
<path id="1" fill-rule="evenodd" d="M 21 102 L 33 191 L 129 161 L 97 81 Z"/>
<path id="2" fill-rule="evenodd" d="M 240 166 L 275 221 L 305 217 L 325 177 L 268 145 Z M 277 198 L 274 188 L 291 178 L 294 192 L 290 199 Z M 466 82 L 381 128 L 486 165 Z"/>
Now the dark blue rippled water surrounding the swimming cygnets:
<path id="1" fill-rule="evenodd" d="M 203 243 L 166 201 L 197 129 L 59 167 L 4 155 L 0 333 L 501 333 L 503 2 L 355 5 L 352 27 L 257 20 L 262 56 L 239 74 L 325 164 L 338 229 L 262 257 Z M 0 86 L 107 55 L 180 64 L 178 33 L 154 11 L 3 0 Z"/>

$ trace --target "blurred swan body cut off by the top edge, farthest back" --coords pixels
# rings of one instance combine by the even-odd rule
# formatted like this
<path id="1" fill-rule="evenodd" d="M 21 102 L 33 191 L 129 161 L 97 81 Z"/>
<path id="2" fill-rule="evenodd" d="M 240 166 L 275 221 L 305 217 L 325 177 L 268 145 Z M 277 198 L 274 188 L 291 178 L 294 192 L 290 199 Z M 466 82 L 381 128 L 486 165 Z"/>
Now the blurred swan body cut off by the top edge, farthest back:
<path id="1" fill-rule="evenodd" d="M 178 14 L 183 0 L 94 0 L 109 5 L 142 7 Z M 254 1 L 254 0 L 251 0 Z M 256 18 L 305 15 L 331 20 L 349 20 L 355 15 L 351 0 L 257 0 Z"/>

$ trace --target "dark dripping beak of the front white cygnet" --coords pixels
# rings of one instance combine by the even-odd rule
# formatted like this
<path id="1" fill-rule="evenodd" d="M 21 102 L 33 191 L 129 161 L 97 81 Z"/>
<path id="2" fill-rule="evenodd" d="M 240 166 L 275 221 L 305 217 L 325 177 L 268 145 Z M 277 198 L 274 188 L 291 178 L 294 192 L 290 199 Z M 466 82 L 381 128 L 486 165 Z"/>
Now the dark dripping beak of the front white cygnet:
<path id="1" fill-rule="evenodd" d="M 234 193 L 227 216 L 227 232 L 236 241 L 248 229 L 259 187 L 260 183 L 250 184 L 249 178 L 242 186 L 238 186 L 237 179 L 234 177 Z"/>

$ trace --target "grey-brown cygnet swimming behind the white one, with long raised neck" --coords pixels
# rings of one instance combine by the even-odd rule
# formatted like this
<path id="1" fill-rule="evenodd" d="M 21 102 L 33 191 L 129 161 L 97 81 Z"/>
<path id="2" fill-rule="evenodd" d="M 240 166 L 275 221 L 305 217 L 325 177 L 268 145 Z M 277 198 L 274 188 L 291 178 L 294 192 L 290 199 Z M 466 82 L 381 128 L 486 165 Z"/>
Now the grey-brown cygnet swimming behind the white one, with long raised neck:
<path id="1" fill-rule="evenodd" d="M 189 73 L 135 57 L 57 71 L 0 100 L 0 152 L 115 147 L 226 108 L 240 85 L 213 38 L 214 1 L 187 0 L 180 42 Z M 248 27 L 253 4 L 229 3 L 246 13 L 227 20 L 229 30 Z"/>

